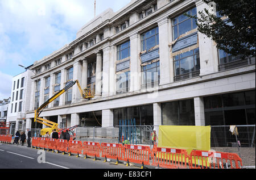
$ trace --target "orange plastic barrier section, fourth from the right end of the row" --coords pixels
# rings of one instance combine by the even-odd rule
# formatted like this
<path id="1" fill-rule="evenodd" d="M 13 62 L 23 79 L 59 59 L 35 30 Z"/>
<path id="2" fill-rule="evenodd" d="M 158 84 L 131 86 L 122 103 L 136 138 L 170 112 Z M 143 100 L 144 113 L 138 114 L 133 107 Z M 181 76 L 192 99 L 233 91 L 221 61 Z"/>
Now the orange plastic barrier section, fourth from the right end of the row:
<path id="1" fill-rule="evenodd" d="M 101 157 L 123 160 L 122 144 L 101 143 Z"/>

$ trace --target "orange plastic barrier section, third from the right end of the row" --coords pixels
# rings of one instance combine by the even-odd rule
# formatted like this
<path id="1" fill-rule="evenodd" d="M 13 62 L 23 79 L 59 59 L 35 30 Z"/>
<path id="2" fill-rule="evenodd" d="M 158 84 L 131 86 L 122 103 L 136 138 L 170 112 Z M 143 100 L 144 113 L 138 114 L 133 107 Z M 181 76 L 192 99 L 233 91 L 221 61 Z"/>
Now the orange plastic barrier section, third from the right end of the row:
<path id="1" fill-rule="evenodd" d="M 141 145 L 129 145 L 123 146 L 124 157 L 123 160 L 128 162 L 134 162 L 142 165 L 150 165 L 150 147 Z"/>

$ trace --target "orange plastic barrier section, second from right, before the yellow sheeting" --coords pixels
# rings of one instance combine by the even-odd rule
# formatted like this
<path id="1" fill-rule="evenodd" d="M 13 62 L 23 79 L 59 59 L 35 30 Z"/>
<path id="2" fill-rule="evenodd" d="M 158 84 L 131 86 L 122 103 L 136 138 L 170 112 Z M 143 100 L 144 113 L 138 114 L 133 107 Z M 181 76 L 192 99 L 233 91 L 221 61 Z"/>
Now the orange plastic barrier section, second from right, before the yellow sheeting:
<path id="1" fill-rule="evenodd" d="M 169 169 L 185 169 L 189 156 L 185 149 L 154 147 L 151 152 L 152 166 Z"/>

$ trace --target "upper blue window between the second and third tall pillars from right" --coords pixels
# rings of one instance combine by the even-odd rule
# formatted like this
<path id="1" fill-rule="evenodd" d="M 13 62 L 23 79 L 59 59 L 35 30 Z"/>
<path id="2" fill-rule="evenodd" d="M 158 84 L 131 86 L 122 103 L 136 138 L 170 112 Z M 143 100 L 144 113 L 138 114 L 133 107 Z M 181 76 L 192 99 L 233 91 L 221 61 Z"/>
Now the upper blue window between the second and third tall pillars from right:
<path id="1" fill-rule="evenodd" d="M 159 44 L 159 31 L 158 27 L 152 28 L 141 35 L 141 49 L 147 50 Z"/>

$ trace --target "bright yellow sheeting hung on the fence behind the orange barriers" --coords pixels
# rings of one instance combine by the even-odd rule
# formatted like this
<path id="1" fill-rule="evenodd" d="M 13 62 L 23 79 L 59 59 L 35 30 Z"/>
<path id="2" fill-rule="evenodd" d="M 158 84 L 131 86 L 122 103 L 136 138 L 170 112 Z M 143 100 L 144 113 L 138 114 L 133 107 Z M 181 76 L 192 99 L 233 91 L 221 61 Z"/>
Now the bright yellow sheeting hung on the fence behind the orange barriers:
<path id="1" fill-rule="evenodd" d="M 193 149 L 210 150 L 210 126 L 160 125 L 158 146 L 186 149 L 188 154 Z"/>

